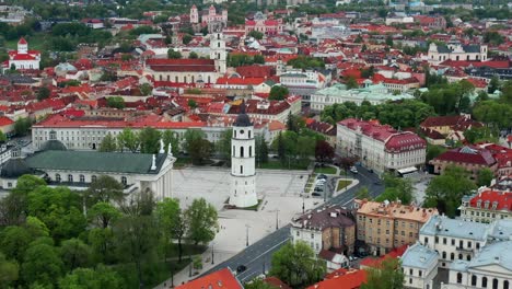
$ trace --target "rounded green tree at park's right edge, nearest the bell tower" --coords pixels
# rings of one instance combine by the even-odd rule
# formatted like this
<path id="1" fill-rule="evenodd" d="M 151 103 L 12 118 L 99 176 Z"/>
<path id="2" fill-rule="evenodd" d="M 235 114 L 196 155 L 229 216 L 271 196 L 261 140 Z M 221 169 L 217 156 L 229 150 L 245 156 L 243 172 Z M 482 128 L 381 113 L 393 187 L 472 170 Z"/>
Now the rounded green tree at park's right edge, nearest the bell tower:
<path id="1" fill-rule="evenodd" d="M 208 244 L 216 238 L 219 230 L 217 209 L 205 198 L 194 199 L 185 210 L 188 223 L 187 238 L 195 245 Z"/>

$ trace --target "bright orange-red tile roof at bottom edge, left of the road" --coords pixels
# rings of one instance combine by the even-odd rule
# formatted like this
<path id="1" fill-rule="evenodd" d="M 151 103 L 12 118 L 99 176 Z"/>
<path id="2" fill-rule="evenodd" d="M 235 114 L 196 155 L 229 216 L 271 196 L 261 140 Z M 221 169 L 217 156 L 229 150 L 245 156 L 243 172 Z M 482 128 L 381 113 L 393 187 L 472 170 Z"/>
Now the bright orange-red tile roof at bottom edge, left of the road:
<path id="1" fill-rule="evenodd" d="M 176 289 L 201 289 L 201 288 L 222 288 L 222 289 L 243 289 L 230 269 L 224 268 L 203 277 L 199 277 L 187 284 L 177 286 Z"/>

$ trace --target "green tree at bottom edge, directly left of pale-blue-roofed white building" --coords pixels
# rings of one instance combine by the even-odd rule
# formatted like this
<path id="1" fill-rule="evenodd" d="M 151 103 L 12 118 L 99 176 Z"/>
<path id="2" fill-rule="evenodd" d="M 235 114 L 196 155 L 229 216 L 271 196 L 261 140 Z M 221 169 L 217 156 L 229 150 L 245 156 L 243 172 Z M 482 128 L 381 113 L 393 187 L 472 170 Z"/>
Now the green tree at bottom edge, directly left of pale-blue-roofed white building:
<path id="1" fill-rule="evenodd" d="M 361 289 L 404 288 L 405 275 L 398 258 L 384 258 L 379 267 L 370 267 L 366 271 L 366 282 L 361 285 Z"/>

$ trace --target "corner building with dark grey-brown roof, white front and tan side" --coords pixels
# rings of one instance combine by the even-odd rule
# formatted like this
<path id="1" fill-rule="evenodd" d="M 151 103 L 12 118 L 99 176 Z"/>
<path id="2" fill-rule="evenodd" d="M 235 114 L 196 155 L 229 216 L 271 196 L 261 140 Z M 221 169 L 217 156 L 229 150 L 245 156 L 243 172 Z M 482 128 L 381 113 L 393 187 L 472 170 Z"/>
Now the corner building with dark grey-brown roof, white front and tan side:
<path id="1" fill-rule="evenodd" d="M 356 222 L 339 205 L 307 211 L 293 219 L 290 232 L 293 243 L 303 241 L 316 254 L 333 250 L 350 255 L 356 243 Z"/>

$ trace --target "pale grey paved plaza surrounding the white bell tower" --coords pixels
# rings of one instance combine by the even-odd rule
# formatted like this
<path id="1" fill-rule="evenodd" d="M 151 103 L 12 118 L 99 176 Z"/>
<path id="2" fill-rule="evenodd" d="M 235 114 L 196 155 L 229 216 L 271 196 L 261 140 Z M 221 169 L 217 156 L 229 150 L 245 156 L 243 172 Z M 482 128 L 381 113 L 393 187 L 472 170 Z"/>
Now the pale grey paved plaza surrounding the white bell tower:
<path id="1" fill-rule="evenodd" d="M 216 262 L 238 253 L 246 247 L 246 232 L 249 245 L 290 222 L 302 212 L 301 193 L 307 181 L 306 171 L 256 171 L 256 192 L 260 205 L 257 211 L 225 209 L 230 197 L 230 171 L 223 169 L 190 167 L 173 171 L 173 197 L 178 198 L 183 208 L 196 198 L 203 197 L 219 210 L 219 226 L 214 251 Z M 304 198 L 305 209 L 319 205 L 321 198 Z M 277 210 L 279 210 L 277 212 Z M 248 229 L 246 228 L 248 226 Z"/>

